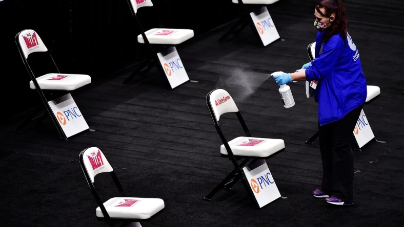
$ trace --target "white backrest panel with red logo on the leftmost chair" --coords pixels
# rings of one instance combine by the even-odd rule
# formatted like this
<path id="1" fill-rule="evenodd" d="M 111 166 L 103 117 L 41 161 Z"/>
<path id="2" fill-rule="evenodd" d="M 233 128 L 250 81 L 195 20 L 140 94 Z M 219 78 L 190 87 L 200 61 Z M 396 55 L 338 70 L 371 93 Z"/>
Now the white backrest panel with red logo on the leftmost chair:
<path id="1" fill-rule="evenodd" d="M 18 40 L 24 52 L 25 59 L 27 59 L 28 55 L 31 53 L 48 51 L 41 37 L 32 29 L 27 29 L 19 33 Z"/>

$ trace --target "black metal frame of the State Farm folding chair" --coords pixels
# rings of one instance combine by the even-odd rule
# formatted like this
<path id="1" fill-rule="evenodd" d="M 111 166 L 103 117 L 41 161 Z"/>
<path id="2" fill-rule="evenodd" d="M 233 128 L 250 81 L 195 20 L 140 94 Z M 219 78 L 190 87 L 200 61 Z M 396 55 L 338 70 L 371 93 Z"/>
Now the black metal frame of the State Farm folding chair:
<path id="1" fill-rule="evenodd" d="M 214 90 L 216 90 L 216 89 L 214 89 Z M 214 113 L 212 105 L 210 103 L 210 95 L 212 94 L 212 92 L 214 92 L 214 90 L 209 92 L 208 95 L 206 96 L 206 103 L 208 105 L 208 109 L 209 109 L 210 115 L 212 117 L 213 123 L 215 125 L 216 131 L 219 134 L 221 142 L 224 144 L 224 146 L 227 150 L 227 153 L 228 153 L 228 155 L 221 154 L 221 156 L 228 157 L 229 160 L 232 162 L 234 169 L 222 181 L 220 181 L 220 183 L 208 195 L 206 195 L 204 197 L 204 199 L 211 200 L 212 197 L 221 189 L 230 190 L 231 187 L 233 187 L 237 183 L 237 181 L 241 179 L 241 182 L 243 183 L 244 188 L 246 189 L 246 191 L 248 192 L 250 197 L 254 200 L 255 205 L 258 207 L 257 200 L 254 197 L 254 193 L 253 193 L 251 187 L 249 187 L 249 183 L 248 183 L 247 177 L 244 173 L 243 167 L 253 163 L 255 160 L 268 159 L 268 158 L 284 151 L 285 148 L 282 150 L 279 150 L 276 153 L 273 153 L 267 157 L 251 157 L 251 156 L 234 155 L 233 151 L 230 148 L 229 143 L 227 142 L 227 139 L 225 137 L 223 130 L 220 128 L 219 122 L 216 120 L 215 113 Z M 251 132 L 248 129 L 246 122 L 243 119 L 243 116 L 241 116 L 241 112 L 237 111 L 237 112 L 235 112 L 235 115 L 237 116 L 237 119 L 238 119 L 241 127 L 243 128 L 243 130 L 246 134 L 246 137 L 252 137 Z"/>

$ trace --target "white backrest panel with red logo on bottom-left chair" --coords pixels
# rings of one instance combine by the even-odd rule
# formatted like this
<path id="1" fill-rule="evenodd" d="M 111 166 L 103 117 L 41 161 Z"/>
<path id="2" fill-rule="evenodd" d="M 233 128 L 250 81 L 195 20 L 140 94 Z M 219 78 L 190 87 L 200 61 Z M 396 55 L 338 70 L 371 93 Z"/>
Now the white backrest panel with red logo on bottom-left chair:
<path id="1" fill-rule="evenodd" d="M 94 183 L 94 177 L 98 173 L 113 171 L 107 158 L 97 147 L 88 148 L 83 154 L 83 161 L 92 183 Z"/>

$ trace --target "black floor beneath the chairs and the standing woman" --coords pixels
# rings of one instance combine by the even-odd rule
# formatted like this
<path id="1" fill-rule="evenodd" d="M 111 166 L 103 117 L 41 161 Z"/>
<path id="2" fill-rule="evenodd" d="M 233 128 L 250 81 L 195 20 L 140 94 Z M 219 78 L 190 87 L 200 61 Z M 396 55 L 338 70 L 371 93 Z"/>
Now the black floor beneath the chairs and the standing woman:
<path id="1" fill-rule="evenodd" d="M 303 82 L 290 84 L 295 106 L 284 108 L 268 74 L 294 72 L 309 61 L 315 40 L 316 1 L 279 1 L 269 12 L 281 39 L 261 47 L 247 27 L 218 42 L 230 25 L 177 47 L 191 79 L 169 89 L 155 69 L 133 84 L 134 70 L 90 84 L 73 98 L 92 130 L 59 139 L 46 118 L 22 133 L 21 119 L 0 130 L 0 225 L 105 226 L 78 163 L 87 147 L 103 150 L 127 193 L 159 197 L 165 210 L 143 226 L 400 226 L 404 221 L 404 25 L 401 1 L 345 1 L 350 34 L 360 51 L 368 85 L 381 95 L 363 110 L 377 141 L 354 152 L 355 205 L 332 206 L 311 196 L 319 187 L 321 160 L 317 107 Z M 27 87 L 28 88 L 28 87 Z M 267 161 L 281 198 L 258 209 L 240 182 L 203 197 L 232 170 L 205 97 L 226 89 L 255 137 L 283 139 L 286 150 Z M 236 123 L 236 121 L 232 121 Z M 236 127 L 227 125 L 229 136 Z M 112 190 L 103 190 L 112 194 Z"/>

